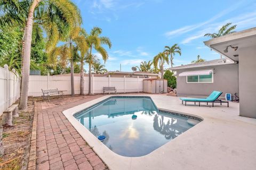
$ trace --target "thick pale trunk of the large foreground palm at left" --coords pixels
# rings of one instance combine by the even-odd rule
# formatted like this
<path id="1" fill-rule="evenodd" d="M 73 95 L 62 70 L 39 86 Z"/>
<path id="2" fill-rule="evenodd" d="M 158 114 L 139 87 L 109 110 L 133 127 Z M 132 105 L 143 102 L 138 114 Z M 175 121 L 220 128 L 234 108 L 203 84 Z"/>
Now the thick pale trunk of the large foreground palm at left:
<path id="1" fill-rule="evenodd" d="M 35 7 L 41 0 L 34 0 L 29 8 L 28 19 L 25 28 L 25 42 L 24 42 L 24 56 L 22 58 L 22 75 L 21 75 L 21 89 L 20 89 L 20 104 L 19 109 L 26 109 L 28 102 L 28 84 L 29 84 L 29 70 L 30 70 L 30 53 L 33 30 L 33 19 Z"/>

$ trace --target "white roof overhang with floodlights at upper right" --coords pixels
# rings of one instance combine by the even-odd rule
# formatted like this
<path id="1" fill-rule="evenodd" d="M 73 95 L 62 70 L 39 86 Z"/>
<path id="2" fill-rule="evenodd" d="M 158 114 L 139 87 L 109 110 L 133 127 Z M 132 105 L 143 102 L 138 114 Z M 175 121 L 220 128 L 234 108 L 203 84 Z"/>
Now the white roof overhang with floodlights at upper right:
<path id="1" fill-rule="evenodd" d="M 204 41 L 204 44 L 233 61 L 239 61 L 239 49 L 256 45 L 256 28 L 213 38 Z M 234 48 L 231 48 L 230 46 L 238 47 L 238 49 L 234 50 Z M 226 49 L 228 51 L 225 52 Z"/>

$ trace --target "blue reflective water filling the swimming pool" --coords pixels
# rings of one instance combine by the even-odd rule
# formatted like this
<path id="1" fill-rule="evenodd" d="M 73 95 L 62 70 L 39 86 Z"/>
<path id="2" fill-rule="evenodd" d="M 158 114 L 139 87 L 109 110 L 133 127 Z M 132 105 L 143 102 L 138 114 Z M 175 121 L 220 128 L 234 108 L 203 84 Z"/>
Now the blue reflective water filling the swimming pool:
<path id="1" fill-rule="evenodd" d="M 139 157 L 178 137 L 193 125 L 188 118 L 161 113 L 146 97 L 111 97 L 74 115 L 116 154 Z"/>

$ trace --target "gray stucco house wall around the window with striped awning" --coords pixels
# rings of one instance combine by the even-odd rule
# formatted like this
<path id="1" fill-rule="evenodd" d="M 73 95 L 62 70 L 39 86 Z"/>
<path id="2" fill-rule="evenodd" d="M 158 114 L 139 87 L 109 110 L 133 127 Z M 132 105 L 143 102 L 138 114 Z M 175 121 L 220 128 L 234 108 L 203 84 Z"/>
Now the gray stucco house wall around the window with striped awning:
<path id="1" fill-rule="evenodd" d="M 179 77 L 185 71 L 213 70 L 213 83 L 186 83 L 186 77 Z M 238 64 L 225 64 L 218 66 L 197 67 L 177 70 L 177 96 L 209 96 L 213 90 L 226 93 L 238 92 Z"/>

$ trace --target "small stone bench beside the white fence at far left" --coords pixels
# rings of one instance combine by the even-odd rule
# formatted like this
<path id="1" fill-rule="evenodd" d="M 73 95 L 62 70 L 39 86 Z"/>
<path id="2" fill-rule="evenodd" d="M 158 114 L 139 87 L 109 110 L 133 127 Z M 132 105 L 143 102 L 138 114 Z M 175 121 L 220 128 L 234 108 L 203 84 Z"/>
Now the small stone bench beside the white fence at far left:
<path id="1" fill-rule="evenodd" d="M 2 125 L 13 126 L 12 117 L 19 117 L 18 105 L 12 105 L 3 112 Z"/>

